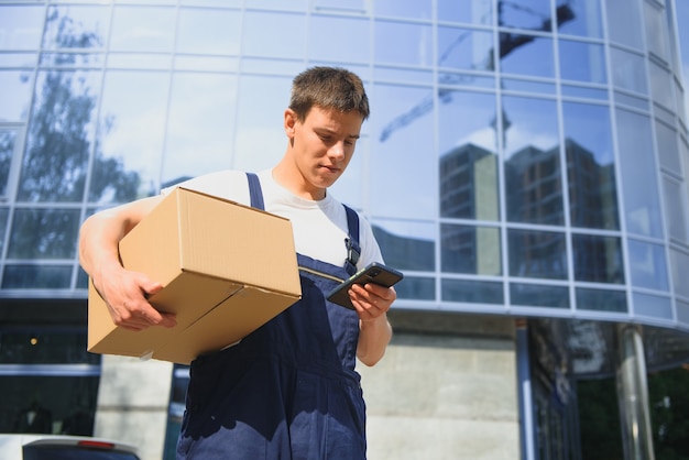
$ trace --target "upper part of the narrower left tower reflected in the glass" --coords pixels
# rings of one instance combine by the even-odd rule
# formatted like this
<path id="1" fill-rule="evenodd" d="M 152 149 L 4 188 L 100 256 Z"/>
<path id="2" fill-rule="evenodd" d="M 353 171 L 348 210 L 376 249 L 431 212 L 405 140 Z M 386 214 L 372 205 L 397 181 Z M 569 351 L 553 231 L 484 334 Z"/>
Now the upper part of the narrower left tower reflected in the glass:
<path id="1" fill-rule="evenodd" d="M 466 144 L 440 158 L 440 216 L 500 218 L 496 156 Z"/>

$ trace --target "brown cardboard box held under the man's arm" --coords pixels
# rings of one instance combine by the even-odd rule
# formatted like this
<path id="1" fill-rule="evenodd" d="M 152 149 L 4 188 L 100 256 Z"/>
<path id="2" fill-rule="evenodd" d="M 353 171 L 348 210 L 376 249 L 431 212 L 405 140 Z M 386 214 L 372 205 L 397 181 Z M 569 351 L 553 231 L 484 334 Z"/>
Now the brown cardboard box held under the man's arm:
<path id="1" fill-rule="evenodd" d="M 237 342 L 302 296 L 289 220 L 184 188 L 120 241 L 122 265 L 164 288 L 150 298 L 174 328 L 112 322 L 89 281 L 88 350 L 188 364 Z"/>

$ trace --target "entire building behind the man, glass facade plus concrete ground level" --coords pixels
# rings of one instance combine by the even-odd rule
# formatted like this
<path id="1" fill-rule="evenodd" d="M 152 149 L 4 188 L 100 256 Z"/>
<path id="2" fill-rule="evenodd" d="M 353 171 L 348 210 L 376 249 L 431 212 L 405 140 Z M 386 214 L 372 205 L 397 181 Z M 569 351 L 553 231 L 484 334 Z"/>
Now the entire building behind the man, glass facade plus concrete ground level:
<path id="1" fill-rule="evenodd" d="M 0 431 L 31 407 L 73 431 L 78 412 L 81 434 L 174 458 L 188 369 L 86 352 L 79 226 L 270 167 L 292 78 L 337 65 L 372 116 L 331 193 L 405 273 L 387 355 L 360 369 L 370 458 L 688 456 L 667 435 L 683 394 L 658 383 L 689 362 L 687 18 L 679 0 L 0 3 Z"/>

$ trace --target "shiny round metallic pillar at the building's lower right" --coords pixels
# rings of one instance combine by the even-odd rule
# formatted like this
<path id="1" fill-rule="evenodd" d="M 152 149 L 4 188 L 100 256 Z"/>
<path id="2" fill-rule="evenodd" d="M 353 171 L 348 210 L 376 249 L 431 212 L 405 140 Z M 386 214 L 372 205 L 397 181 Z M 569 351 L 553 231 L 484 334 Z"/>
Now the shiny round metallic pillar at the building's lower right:
<path id="1" fill-rule="evenodd" d="M 637 326 L 617 327 L 617 397 L 625 460 L 655 460 L 644 342 Z"/>

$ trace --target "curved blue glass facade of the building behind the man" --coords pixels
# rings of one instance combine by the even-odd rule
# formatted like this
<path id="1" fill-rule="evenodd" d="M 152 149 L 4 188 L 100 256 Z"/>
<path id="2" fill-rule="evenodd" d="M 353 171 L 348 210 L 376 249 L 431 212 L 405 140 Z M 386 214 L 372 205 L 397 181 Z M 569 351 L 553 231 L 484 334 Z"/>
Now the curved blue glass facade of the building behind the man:
<path id="1" fill-rule="evenodd" d="M 39 379 L 63 382 L 51 431 L 77 406 L 94 417 L 80 222 L 272 166 L 313 65 L 365 83 L 372 114 L 332 193 L 405 272 L 396 309 L 527 318 L 532 340 L 557 320 L 543 333 L 564 330 L 570 377 L 614 374 L 591 357 L 624 325 L 649 368 L 689 360 L 685 3 L 0 0 L 0 431 Z"/>

